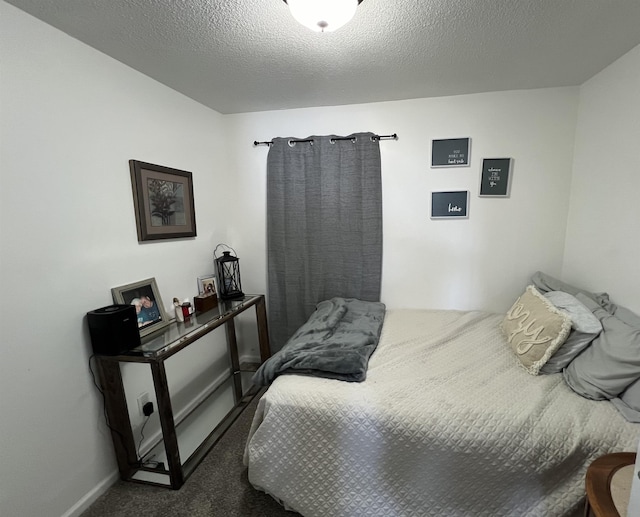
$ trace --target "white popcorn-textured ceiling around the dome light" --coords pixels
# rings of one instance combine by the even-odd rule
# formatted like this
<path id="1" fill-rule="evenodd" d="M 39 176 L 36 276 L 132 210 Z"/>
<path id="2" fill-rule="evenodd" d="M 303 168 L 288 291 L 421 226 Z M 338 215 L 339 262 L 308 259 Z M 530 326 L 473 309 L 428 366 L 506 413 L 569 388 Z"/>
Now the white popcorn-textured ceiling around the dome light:
<path id="1" fill-rule="evenodd" d="M 332 33 L 282 0 L 8 0 L 220 113 L 579 85 L 640 0 L 364 0 Z"/>

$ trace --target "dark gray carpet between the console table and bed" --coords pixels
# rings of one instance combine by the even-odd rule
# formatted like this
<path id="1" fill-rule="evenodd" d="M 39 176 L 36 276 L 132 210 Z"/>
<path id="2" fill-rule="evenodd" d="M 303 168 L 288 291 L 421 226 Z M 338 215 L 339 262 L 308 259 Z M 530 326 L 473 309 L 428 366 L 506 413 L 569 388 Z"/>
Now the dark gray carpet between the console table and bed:
<path id="1" fill-rule="evenodd" d="M 118 481 L 82 517 L 297 517 L 255 490 L 242 463 L 256 397 L 180 490 Z"/>

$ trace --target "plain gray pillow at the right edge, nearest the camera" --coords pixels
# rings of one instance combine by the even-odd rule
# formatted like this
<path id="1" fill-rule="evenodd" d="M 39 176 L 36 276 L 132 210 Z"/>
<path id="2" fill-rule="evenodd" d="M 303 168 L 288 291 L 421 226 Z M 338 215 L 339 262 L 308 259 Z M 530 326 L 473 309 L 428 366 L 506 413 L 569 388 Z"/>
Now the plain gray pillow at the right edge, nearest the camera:
<path id="1" fill-rule="evenodd" d="M 591 298 L 576 295 L 602 324 L 602 332 L 564 370 L 569 387 L 593 400 L 620 395 L 640 378 L 640 326 L 625 323 Z"/>

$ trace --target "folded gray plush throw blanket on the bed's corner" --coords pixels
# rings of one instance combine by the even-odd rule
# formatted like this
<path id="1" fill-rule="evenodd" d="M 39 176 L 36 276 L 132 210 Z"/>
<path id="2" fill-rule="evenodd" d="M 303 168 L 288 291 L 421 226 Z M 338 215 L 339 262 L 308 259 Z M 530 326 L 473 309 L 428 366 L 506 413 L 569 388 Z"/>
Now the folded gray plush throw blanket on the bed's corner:
<path id="1" fill-rule="evenodd" d="M 354 298 L 320 302 L 309 320 L 282 349 L 253 375 L 253 383 L 267 386 L 281 374 L 313 375 L 361 382 L 369 357 L 378 346 L 385 306 Z"/>

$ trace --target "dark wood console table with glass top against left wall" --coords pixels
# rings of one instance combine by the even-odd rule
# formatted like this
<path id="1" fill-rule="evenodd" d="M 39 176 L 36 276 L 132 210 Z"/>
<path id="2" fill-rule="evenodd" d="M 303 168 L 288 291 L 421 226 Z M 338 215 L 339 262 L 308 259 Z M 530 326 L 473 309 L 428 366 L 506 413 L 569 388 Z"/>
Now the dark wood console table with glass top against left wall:
<path id="1" fill-rule="evenodd" d="M 157 333 L 142 338 L 142 344 L 133 350 L 115 356 L 96 356 L 98 377 L 105 398 L 105 412 L 122 479 L 173 489 L 180 488 L 204 459 L 207 452 L 258 393 L 259 390 L 255 386 L 252 386 L 244 394 L 242 392 L 241 372 L 255 370 L 255 364 L 240 364 L 234 325 L 234 319 L 251 307 L 255 308 L 260 361 L 262 363 L 271 355 L 264 295 L 246 295 L 233 300 L 220 300 L 214 309 L 194 314 L 184 323 L 172 322 Z M 164 362 L 221 325 L 224 325 L 226 331 L 229 359 L 229 374 L 225 380 L 232 382 L 234 406 L 189 458 L 182 460 L 178 450 L 176 428 L 198 406 L 192 408 L 188 414 L 182 415 L 179 421 L 176 421 L 171 407 Z M 151 368 L 157 402 L 156 411 L 162 430 L 160 442 L 164 444 L 167 467 L 164 466 L 164 462 L 154 467 L 144 466 L 137 456 L 120 370 L 120 364 L 128 362 L 146 363 Z M 215 389 L 209 395 L 214 392 Z"/>

